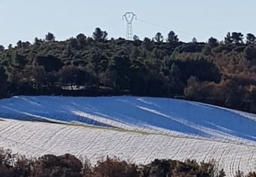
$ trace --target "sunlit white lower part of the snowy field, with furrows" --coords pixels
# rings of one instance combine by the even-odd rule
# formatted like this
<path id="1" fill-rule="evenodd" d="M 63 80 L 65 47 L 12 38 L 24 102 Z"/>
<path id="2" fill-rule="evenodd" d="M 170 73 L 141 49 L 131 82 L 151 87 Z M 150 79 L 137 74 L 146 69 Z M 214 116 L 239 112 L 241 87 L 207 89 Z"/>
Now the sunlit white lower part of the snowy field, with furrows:
<path id="1" fill-rule="evenodd" d="M 238 170 L 245 173 L 256 170 L 255 146 L 53 123 L 0 121 L 0 147 L 12 147 L 14 152 L 33 157 L 64 153 L 83 155 L 92 163 L 106 155 L 135 163 L 150 163 L 154 159 L 210 161 L 214 158 L 227 176 L 234 176 Z"/>

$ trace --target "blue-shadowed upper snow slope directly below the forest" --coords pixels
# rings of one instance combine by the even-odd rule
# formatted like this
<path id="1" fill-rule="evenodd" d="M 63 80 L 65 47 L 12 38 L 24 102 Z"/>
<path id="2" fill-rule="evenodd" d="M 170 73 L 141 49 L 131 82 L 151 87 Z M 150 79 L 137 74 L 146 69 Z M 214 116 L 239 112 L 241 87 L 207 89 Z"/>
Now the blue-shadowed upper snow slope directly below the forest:
<path id="1" fill-rule="evenodd" d="M 179 99 L 150 97 L 13 97 L 0 100 L 0 116 L 102 127 L 177 133 L 238 142 L 256 141 L 253 116 Z"/>

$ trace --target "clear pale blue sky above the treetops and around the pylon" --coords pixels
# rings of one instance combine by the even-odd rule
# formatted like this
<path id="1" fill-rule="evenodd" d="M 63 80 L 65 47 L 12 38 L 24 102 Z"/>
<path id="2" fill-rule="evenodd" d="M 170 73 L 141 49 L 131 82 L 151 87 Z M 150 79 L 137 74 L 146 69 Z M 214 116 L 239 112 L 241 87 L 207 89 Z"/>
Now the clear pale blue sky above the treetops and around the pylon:
<path id="1" fill-rule="evenodd" d="M 173 30 L 184 42 L 194 36 L 200 42 L 209 37 L 222 40 L 228 31 L 256 34 L 255 7 L 255 0 L 1 0 L 0 44 L 33 42 L 48 32 L 57 40 L 79 33 L 91 36 L 96 27 L 106 30 L 109 38 L 125 37 L 122 15 L 127 11 L 169 28 L 134 21 L 134 34 L 141 39 L 158 31 L 166 37 Z"/>

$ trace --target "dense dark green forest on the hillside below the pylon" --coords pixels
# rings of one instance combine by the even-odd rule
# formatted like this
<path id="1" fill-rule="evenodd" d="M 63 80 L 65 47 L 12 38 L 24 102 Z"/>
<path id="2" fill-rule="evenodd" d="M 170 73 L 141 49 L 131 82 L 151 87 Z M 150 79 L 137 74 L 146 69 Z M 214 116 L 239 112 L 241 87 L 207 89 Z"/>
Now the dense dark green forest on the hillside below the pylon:
<path id="1" fill-rule="evenodd" d="M 256 37 L 180 42 L 170 31 L 150 39 L 108 39 L 96 28 L 56 41 L 0 46 L 0 97 L 139 95 L 176 97 L 256 112 Z"/>

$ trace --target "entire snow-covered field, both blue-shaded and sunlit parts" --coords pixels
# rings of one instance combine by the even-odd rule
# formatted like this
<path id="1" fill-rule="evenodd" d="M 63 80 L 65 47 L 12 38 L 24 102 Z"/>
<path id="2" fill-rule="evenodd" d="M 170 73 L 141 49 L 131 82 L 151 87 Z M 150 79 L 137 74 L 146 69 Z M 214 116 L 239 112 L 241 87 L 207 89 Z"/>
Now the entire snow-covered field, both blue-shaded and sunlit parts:
<path id="1" fill-rule="evenodd" d="M 256 170 L 256 116 L 203 103 L 19 96 L 0 100 L 0 117 L 0 147 L 24 155 L 71 153 L 93 163 L 106 155 L 135 163 L 214 158 L 227 176 Z"/>

